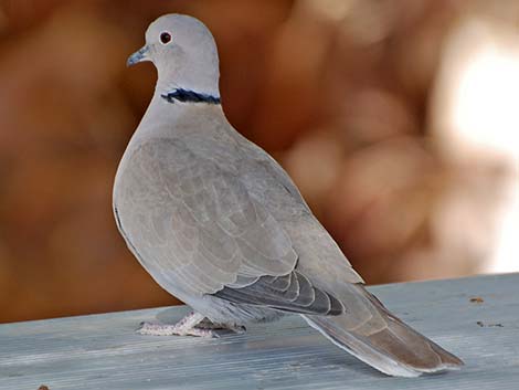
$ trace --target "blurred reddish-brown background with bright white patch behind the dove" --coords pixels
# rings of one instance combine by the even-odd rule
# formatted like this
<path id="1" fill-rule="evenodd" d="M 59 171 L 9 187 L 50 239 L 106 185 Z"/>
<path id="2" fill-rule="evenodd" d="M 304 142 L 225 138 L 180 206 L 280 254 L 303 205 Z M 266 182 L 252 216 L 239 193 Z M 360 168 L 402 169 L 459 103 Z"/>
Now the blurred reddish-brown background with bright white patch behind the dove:
<path id="1" fill-rule="evenodd" d="M 519 2 L 0 1 L 0 323 L 177 303 L 112 214 L 162 13 L 370 284 L 519 271 Z"/>

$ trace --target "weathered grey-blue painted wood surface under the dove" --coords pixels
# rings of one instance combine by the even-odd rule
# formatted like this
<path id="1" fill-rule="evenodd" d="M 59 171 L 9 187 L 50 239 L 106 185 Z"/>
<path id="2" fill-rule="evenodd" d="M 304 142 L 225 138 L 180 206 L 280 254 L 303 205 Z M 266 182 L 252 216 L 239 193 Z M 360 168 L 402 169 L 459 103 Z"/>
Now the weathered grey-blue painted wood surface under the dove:
<path id="1" fill-rule="evenodd" d="M 519 389 L 519 274 L 370 289 L 466 367 L 385 377 L 297 316 L 219 339 L 135 334 L 179 306 L 0 325 L 0 389 Z"/>

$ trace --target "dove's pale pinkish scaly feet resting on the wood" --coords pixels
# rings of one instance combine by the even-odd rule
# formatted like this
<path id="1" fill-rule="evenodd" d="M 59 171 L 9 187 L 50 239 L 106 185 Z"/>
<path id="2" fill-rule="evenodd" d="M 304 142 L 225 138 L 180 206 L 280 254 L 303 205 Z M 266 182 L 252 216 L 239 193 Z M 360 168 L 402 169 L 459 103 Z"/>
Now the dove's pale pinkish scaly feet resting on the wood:
<path id="1" fill-rule="evenodd" d="M 148 336 L 220 337 L 227 331 L 243 334 L 245 327 L 235 324 L 215 324 L 201 314 L 191 313 L 174 325 L 142 323 L 137 329 L 139 335 Z"/>

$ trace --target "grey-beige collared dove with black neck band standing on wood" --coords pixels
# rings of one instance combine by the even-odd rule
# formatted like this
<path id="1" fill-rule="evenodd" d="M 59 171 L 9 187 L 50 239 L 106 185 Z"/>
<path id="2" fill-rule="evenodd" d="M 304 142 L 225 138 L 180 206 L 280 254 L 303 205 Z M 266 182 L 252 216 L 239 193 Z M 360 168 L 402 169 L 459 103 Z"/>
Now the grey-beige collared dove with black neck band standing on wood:
<path id="1" fill-rule="evenodd" d="M 141 335 L 212 337 L 296 314 L 389 376 L 464 365 L 367 291 L 288 173 L 229 123 L 201 21 L 158 18 L 127 65 L 146 61 L 157 84 L 117 168 L 113 210 L 130 252 L 193 312 L 145 323 Z"/>

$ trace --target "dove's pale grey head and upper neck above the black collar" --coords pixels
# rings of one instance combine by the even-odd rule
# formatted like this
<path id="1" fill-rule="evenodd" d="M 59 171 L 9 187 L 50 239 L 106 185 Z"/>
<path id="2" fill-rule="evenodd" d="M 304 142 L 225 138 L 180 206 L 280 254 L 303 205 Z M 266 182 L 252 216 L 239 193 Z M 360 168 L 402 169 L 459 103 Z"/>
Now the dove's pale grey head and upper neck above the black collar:
<path id="1" fill-rule="evenodd" d="M 151 61 L 158 71 L 157 92 L 176 88 L 219 96 L 219 59 L 209 29 L 198 19 L 166 14 L 146 31 L 146 44 L 128 59 L 128 66 Z"/>

